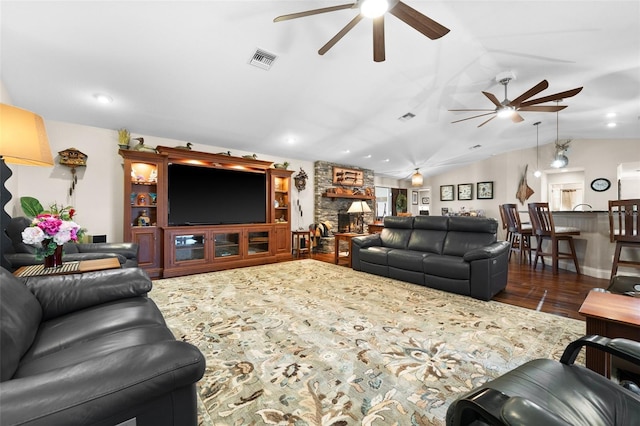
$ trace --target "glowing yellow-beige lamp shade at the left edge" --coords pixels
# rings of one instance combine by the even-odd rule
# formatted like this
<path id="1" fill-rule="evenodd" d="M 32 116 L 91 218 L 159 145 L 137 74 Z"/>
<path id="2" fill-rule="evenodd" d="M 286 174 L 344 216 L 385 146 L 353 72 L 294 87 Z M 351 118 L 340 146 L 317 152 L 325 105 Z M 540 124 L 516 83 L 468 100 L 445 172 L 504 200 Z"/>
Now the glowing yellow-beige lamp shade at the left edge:
<path id="1" fill-rule="evenodd" d="M 53 166 L 42 117 L 21 108 L 0 104 L 0 157 L 6 163 Z"/>

